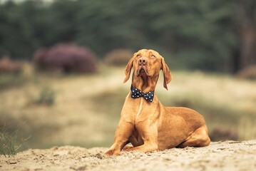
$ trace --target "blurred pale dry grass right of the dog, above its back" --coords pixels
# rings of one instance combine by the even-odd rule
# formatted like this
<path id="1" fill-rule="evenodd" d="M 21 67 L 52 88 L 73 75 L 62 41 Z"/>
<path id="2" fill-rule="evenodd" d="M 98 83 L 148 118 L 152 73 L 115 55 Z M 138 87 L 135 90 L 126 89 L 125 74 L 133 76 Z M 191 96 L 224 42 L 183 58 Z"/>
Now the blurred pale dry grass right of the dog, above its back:
<path id="1" fill-rule="evenodd" d="M 188 105 L 198 110 L 205 116 L 210 131 L 219 127 L 237 132 L 240 140 L 256 138 L 255 81 L 200 72 L 173 75 L 170 91 L 163 93 L 165 105 Z"/>

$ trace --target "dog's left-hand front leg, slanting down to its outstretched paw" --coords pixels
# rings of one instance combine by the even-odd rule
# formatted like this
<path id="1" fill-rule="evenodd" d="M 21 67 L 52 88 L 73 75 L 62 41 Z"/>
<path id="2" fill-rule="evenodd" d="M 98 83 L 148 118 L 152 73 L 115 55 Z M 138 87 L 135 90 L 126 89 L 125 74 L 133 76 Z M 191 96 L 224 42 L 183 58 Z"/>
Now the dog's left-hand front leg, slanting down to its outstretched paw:
<path id="1" fill-rule="evenodd" d="M 134 125 L 128 123 L 125 120 L 120 120 L 118 123 L 118 128 L 116 129 L 116 135 L 113 145 L 105 153 L 106 155 L 118 155 L 123 147 L 129 142 L 128 139 L 133 133 Z"/>

